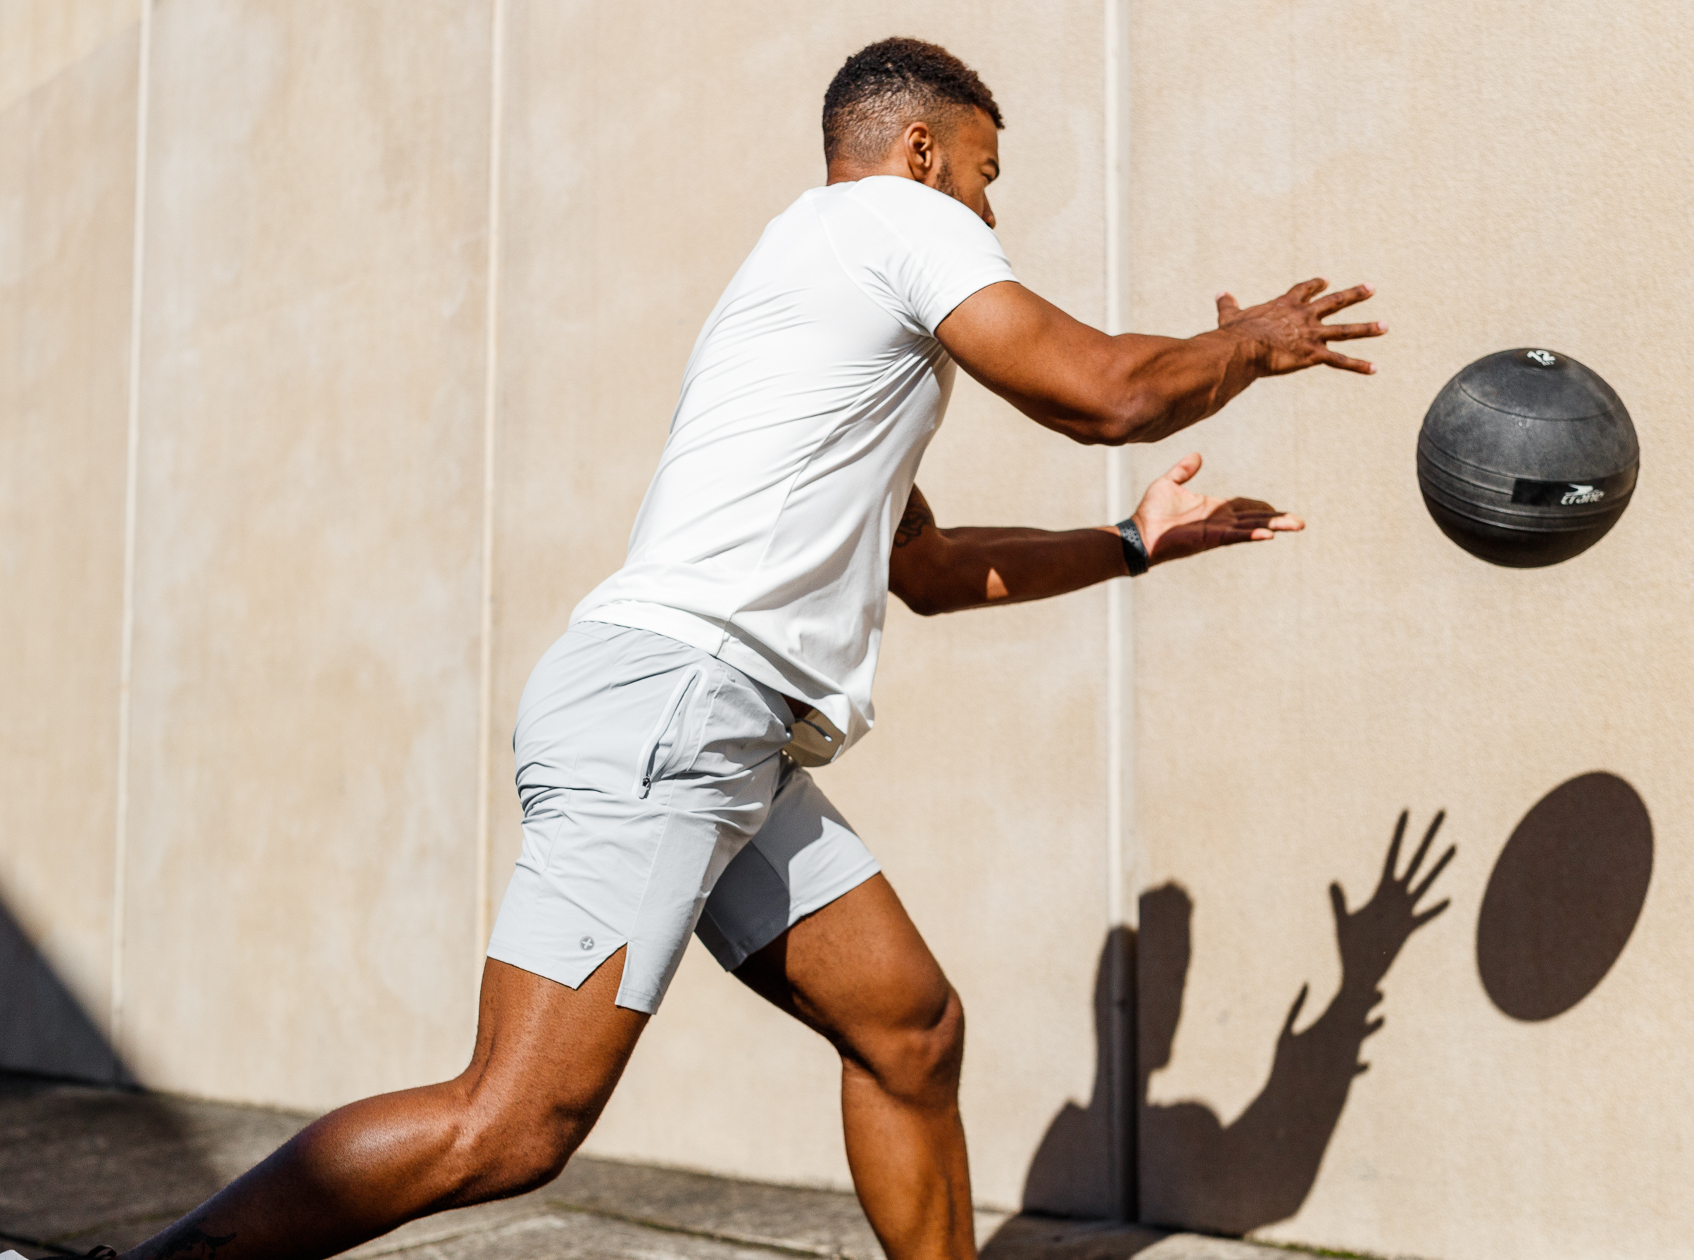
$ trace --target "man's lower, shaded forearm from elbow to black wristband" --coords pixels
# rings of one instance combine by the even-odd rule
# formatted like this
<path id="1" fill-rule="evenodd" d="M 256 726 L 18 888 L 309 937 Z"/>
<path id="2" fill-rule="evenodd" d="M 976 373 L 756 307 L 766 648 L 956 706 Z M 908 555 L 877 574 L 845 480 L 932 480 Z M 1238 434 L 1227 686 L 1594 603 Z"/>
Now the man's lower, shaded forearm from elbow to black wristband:
<path id="1" fill-rule="evenodd" d="M 1047 600 L 1123 578 L 1123 542 L 1110 525 L 1086 530 L 952 528 L 923 571 L 896 589 L 925 616 L 998 603 Z"/>

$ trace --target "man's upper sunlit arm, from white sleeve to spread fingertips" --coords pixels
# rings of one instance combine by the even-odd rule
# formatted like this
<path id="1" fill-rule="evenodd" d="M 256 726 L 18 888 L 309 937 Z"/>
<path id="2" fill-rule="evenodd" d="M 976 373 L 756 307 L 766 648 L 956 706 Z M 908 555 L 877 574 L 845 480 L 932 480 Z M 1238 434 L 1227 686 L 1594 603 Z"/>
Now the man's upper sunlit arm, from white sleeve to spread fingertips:
<path id="1" fill-rule="evenodd" d="M 1220 295 L 1218 327 L 1196 337 L 1108 337 L 1016 281 L 977 290 L 935 335 L 971 376 L 1027 417 L 1076 442 L 1157 442 L 1218 412 L 1260 376 L 1328 364 L 1372 371 L 1328 347 L 1379 337 L 1381 323 L 1323 320 L 1370 296 L 1355 286 L 1318 298 L 1308 279 L 1242 310 Z"/>

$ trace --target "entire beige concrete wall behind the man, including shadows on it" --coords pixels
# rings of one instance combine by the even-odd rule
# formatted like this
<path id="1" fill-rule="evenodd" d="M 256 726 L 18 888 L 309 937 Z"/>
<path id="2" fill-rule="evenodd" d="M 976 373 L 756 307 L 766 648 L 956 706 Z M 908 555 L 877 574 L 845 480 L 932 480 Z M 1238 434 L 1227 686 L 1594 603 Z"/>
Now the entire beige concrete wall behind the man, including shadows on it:
<path id="1" fill-rule="evenodd" d="M 959 383 L 944 525 L 1099 523 L 1189 449 L 1311 522 L 889 610 L 877 730 L 822 779 L 964 996 L 979 1197 L 1680 1253 L 1670 3 L 0 0 L 0 1064 L 307 1108 L 462 1065 L 518 691 L 822 180 L 828 76 L 893 32 L 994 88 L 1001 239 L 1077 317 L 1187 334 L 1325 274 L 1392 327 L 1377 378 L 1133 457 Z M 1513 345 L 1641 437 L 1555 569 L 1465 555 L 1416 489 L 1428 400 Z M 1420 877 L 1459 854 L 1370 901 L 1403 808 L 1399 872 L 1440 808 Z M 833 1055 L 695 950 L 591 1148 L 845 1184 Z"/>

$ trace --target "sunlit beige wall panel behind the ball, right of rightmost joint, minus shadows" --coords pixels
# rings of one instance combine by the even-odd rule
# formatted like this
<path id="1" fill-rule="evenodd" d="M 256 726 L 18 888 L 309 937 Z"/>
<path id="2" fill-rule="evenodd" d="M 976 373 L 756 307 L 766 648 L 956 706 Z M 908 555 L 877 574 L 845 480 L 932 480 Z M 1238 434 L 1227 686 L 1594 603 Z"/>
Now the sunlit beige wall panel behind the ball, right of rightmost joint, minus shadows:
<path id="1" fill-rule="evenodd" d="M 1304 1206 L 1267 1233 L 1452 1260 L 1687 1255 L 1694 17 L 1574 2 L 1133 12 L 1133 323 L 1204 327 L 1220 288 L 1264 298 L 1325 274 L 1379 285 L 1365 310 L 1392 325 L 1377 378 L 1262 383 L 1135 457 L 1143 479 L 1201 449 L 1211 484 L 1311 522 L 1137 591 L 1138 882 L 1179 881 L 1194 903 L 1152 1099 L 1235 1119 L 1301 984 L 1301 1026 L 1335 991 L 1328 882 L 1357 904 L 1398 811 L 1421 828 L 1445 806 L 1453 904 L 1382 984 L 1370 1070 Z M 1437 390 L 1514 345 L 1601 371 L 1641 437 L 1628 515 L 1553 569 L 1460 552 L 1413 471 Z M 1652 886 L 1599 987 L 1516 1021 L 1479 981 L 1479 903 L 1523 815 L 1587 771 L 1645 799 Z M 1570 933 L 1599 928 L 1574 909 Z"/>

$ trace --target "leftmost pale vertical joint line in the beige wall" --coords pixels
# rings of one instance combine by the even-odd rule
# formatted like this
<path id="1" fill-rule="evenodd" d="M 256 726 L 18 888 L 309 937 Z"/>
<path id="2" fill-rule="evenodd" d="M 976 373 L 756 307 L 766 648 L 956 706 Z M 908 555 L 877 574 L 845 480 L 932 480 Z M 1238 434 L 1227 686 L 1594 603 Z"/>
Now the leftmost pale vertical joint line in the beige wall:
<path id="1" fill-rule="evenodd" d="M 129 892 L 129 730 L 130 677 L 136 659 L 136 500 L 141 484 L 141 312 L 147 244 L 147 113 L 152 97 L 152 0 L 141 0 L 141 49 L 136 69 L 136 207 L 129 278 L 129 391 L 124 417 L 124 611 L 119 622 L 117 782 L 112 825 L 112 1006 L 107 1035 L 124 1057 L 124 908 Z"/>

